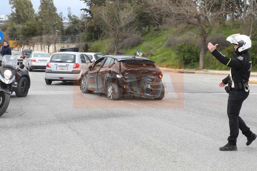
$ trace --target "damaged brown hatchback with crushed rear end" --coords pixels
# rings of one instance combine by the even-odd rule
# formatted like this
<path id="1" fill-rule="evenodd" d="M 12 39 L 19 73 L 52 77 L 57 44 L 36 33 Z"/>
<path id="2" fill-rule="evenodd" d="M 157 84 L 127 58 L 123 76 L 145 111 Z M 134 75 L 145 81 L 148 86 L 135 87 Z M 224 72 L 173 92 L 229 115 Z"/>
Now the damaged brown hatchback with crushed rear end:
<path id="1" fill-rule="evenodd" d="M 82 72 L 80 90 L 107 94 L 108 99 L 164 97 L 162 72 L 154 61 L 130 55 L 106 55 Z"/>

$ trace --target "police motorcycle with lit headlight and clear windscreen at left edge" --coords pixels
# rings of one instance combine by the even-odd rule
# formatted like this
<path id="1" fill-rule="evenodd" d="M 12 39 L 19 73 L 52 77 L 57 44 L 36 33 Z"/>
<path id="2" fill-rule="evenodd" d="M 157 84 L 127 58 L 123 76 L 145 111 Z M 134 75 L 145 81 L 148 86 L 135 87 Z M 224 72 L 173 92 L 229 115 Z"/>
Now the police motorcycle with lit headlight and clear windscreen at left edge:
<path id="1" fill-rule="evenodd" d="M 12 55 L 4 55 L 2 63 L 0 63 L 0 116 L 6 111 L 10 102 L 10 94 L 18 85 L 15 82 L 15 73 L 20 70 L 17 68 L 17 63 L 17 57 Z M 20 68 L 23 69 L 24 64 L 21 64 Z"/>

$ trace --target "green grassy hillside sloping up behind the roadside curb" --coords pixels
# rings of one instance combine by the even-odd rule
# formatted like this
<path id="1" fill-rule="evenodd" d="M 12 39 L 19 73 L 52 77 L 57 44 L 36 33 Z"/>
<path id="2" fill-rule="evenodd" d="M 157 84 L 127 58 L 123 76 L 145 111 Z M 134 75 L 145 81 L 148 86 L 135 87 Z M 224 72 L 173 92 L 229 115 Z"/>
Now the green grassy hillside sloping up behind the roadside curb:
<path id="1" fill-rule="evenodd" d="M 151 29 L 145 31 L 142 34 L 143 42 L 140 45 L 133 47 L 131 49 L 120 49 L 126 55 L 135 55 L 136 50 L 140 50 L 143 53 L 143 56 L 155 61 L 160 67 L 169 67 L 169 68 L 188 68 L 188 69 L 198 69 L 199 62 L 193 62 L 191 64 L 183 64 L 181 60 L 180 53 L 176 48 L 176 41 L 178 43 L 182 42 L 195 42 L 195 48 L 200 48 L 200 36 L 197 27 L 191 27 L 187 29 L 182 34 L 178 34 L 183 30 L 183 26 L 171 27 L 166 29 Z M 208 31 L 208 28 L 206 29 Z M 233 29 L 230 28 L 230 22 L 226 22 L 224 25 L 219 26 L 216 24 L 208 37 L 208 42 L 210 41 L 213 44 L 218 43 L 219 46 L 217 49 L 228 57 L 233 57 L 233 47 L 234 45 L 226 42 L 226 38 L 232 34 L 241 33 L 241 24 L 240 22 L 235 22 Z M 255 35 L 253 35 L 255 36 Z M 254 45 L 257 45 L 256 37 L 252 37 L 252 52 L 251 57 L 253 64 L 255 63 L 255 58 L 257 61 L 256 52 L 254 53 Z M 175 41 L 176 40 L 176 41 Z M 106 54 L 107 48 L 110 47 L 112 39 L 98 40 L 91 43 L 91 46 L 99 46 L 100 52 Z M 173 45 L 171 45 L 173 43 Z M 107 44 L 107 45 L 106 45 Z M 227 47 L 227 48 L 226 48 Z M 257 50 L 257 49 L 256 49 Z M 196 57 L 197 58 L 197 57 Z M 198 56 L 199 58 L 199 56 Z M 254 58 L 254 59 L 253 59 Z M 229 67 L 218 62 L 218 60 L 213 57 L 207 50 L 204 56 L 204 69 L 216 69 L 216 70 L 229 70 Z M 257 71 L 257 67 L 253 66 L 252 71 Z"/>

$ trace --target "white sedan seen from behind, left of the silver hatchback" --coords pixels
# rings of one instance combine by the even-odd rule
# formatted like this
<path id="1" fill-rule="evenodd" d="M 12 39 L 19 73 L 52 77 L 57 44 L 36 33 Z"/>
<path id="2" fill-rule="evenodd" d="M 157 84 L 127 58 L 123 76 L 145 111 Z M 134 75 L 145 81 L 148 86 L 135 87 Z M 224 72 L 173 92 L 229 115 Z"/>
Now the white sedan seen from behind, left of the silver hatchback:
<path id="1" fill-rule="evenodd" d="M 46 69 L 46 64 L 50 59 L 50 54 L 46 52 L 32 52 L 25 62 L 25 67 L 32 71 L 32 69 Z"/>

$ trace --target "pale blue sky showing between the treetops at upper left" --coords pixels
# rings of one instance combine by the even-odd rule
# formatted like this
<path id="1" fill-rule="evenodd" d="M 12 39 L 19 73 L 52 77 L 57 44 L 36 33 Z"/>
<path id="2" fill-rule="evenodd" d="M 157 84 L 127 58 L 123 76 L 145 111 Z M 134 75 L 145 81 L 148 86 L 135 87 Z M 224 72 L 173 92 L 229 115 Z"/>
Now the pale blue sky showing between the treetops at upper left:
<path id="1" fill-rule="evenodd" d="M 38 7 L 40 5 L 40 0 L 30 0 L 35 12 L 38 12 Z M 78 17 L 83 11 L 80 11 L 81 8 L 86 8 L 84 1 L 80 0 L 53 0 L 55 7 L 57 8 L 57 13 L 62 12 L 63 17 L 67 17 L 68 10 L 71 8 L 71 12 Z M 11 5 L 9 5 L 9 0 L 0 0 L 0 14 L 10 15 L 11 14 Z M 7 17 L 6 17 L 7 19 Z"/>

